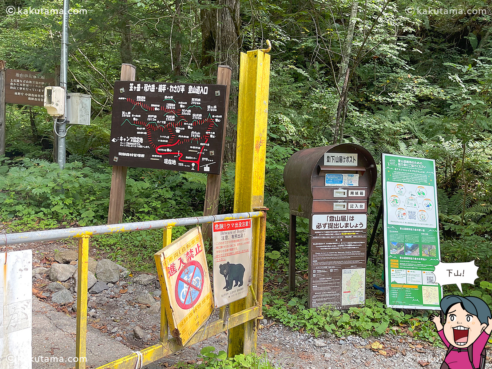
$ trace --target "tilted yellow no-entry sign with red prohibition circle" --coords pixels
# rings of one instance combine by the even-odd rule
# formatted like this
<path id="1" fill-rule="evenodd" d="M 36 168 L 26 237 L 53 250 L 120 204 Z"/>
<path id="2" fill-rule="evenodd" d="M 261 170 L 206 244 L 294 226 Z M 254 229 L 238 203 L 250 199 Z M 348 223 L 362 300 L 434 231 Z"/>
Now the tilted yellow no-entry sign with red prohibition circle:
<path id="1" fill-rule="evenodd" d="M 154 258 L 171 334 L 184 346 L 214 309 L 201 229 L 189 230 Z"/>

